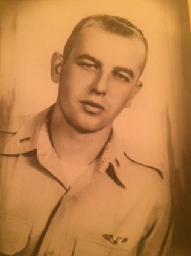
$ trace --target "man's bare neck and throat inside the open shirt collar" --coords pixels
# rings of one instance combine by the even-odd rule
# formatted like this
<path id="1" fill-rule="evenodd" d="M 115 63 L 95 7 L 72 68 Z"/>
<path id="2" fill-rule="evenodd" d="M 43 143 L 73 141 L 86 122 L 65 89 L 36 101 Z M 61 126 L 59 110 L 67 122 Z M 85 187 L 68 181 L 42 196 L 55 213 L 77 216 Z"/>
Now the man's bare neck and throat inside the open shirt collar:
<path id="1" fill-rule="evenodd" d="M 81 133 L 64 119 L 63 113 L 55 105 L 52 112 L 50 131 L 52 144 L 60 159 L 75 165 L 88 165 L 98 156 L 107 141 L 111 126 L 93 133 Z"/>

